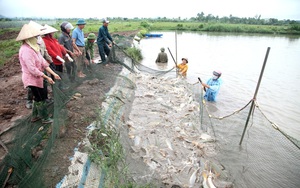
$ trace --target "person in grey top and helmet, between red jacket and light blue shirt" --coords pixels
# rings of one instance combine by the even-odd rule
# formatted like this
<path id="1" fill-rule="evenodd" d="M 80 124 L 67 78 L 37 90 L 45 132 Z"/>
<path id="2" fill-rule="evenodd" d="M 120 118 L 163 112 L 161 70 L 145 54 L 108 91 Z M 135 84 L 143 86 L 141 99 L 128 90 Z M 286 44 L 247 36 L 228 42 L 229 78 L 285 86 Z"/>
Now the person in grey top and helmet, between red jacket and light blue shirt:
<path id="1" fill-rule="evenodd" d="M 74 29 L 73 25 L 70 22 L 63 22 L 60 25 L 61 34 L 58 38 L 58 42 L 65 48 L 69 56 L 73 59 L 73 61 L 66 60 L 65 66 L 67 69 L 67 74 L 71 82 L 75 81 L 77 66 L 75 63 L 75 57 L 78 56 L 79 52 L 73 48 L 73 41 L 71 38 L 71 30 Z"/>

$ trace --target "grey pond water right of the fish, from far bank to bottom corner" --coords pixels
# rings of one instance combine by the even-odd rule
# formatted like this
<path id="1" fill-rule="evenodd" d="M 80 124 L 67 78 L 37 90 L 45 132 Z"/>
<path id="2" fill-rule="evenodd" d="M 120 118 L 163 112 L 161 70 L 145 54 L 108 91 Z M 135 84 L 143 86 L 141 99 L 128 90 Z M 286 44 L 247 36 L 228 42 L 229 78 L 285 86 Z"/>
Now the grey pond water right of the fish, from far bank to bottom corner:
<path id="1" fill-rule="evenodd" d="M 182 57 L 189 59 L 187 76 L 189 83 L 197 82 L 198 76 L 202 80 L 207 80 L 213 70 L 221 70 L 223 85 L 218 102 L 210 104 L 210 110 L 221 116 L 241 108 L 251 100 L 267 47 L 271 47 L 257 101 L 269 119 L 288 135 L 300 140 L 299 38 L 183 32 L 177 33 L 176 55 L 174 32 L 157 33 L 163 33 L 163 37 L 143 39 L 140 42 L 139 47 L 144 55 L 142 63 L 154 69 L 173 67 L 173 60 L 167 50 L 169 47 L 179 62 Z M 164 67 L 154 63 L 161 47 L 166 48 L 169 56 L 169 63 Z M 251 134 L 245 137 L 246 144 L 241 148 L 238 147 L 246 115 L 247 112 L 243 112 L 227 122 L 219 121 L 216 124 L 223 127 L 215 127 L 219 142 L 226 143 L 220 144 L 220 153 L 223 152 L 224 156 L 219 159 L 230 170 L 236 185 L 299 186 L 300 181 L 297 180 L 300 176 L 299 150 L 290 146 L 288 141 L 273 143 L 271 140 L 274 139 L 274 135 L 269 134 L 272 129 L 252 128 Z M 258 124 L 268 124 L 266 121 L 257 121 Z M 264 135 L 261 136 L 263 132 Z M 277 147 L 275 153 L 274 147 Z M 290 151 L 294 151 L 293 154 L 289 154 Z M 263 159 L 266 155 L 268 159 Z M 246 165 L 243 160 L 245 158 L 248 159 Z"/>

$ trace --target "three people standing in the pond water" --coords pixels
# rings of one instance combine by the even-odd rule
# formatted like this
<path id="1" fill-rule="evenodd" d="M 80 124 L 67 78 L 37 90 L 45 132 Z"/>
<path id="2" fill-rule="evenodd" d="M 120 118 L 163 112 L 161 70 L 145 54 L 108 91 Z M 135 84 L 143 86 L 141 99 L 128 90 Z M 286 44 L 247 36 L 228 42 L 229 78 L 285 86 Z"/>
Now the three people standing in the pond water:
<path id="1" fill-rule="evenodd" d="M 182 58 L 181 63 L 179 65 L 176 65 L 176 68 L 178 69 L 179 75 L 182 77 L 186 77 L 186 73 L 188 70 L 188 58 Z M 168 55 L 165 53 L 165 48 L 160 49 L 160 53 L 157 55 L 157 58 L 155 60 L 156 63 L 167 63 L 168 62 Z M 220 86 L 221 86 L 221 80 L 219 79 L 221 77 L 222 73 L 220 71 L 213 71 L 213 75 L 206 83 L 201 82 L 202 87 L 204 88 L 205 95 L 204 99 L 207 101 L 216 101 L 216 97 L 219 93 Z"/>

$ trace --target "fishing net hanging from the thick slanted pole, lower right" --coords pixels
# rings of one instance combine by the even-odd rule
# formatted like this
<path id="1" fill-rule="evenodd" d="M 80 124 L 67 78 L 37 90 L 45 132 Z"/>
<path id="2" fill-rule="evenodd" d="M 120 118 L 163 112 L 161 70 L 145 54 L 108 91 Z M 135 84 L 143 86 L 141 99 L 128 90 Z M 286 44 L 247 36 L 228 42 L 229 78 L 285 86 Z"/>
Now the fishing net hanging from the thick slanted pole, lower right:
<path id="1" fill-rule="evenodd" d="M 222 114 L 217 103 L 203 101 L 199 85 L 192 87 L 199 99 L 201 125 L 216 138 L 215 159 L 221 166 L 211 166 L 215 185 L 222 187 L 218 180 L 226 172 L 225 179 L 234 187 L 299 187 L 300 143 L 272 122 L 258 101 Z M 252 102 L 253 113 L 241 141 Z"/>

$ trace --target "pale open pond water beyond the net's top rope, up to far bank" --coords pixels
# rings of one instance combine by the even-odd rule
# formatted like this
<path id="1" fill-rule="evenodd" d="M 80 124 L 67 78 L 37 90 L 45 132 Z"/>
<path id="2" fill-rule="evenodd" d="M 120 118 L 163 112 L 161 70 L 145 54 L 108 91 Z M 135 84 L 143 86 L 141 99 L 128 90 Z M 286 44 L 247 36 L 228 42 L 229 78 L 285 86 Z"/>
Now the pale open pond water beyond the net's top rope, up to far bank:
<path id="1" fill-rule="evenodd" d="M 140 42 L 142 63 L 154 69 L 174 66 L 174 32 L 159 32 L 161 38 L 146 38 Z M 155 63 L 160 48 L 168 53 L 169 63 Z M 177 60 L 189 59 L 187 81 L 197 77 L 207 80 L 213 70 L 222 71 L 223 85 L 217 106 L 222 114 L 245 105 L 254 95 L 267 48 L 270 53 L 257 101 L 265 113 L 289 135 L 300 140 L 300 38 L 265 35 L 233 35 L 224 33 L 177 33 Z M 175 75 L 175 73 L 174 73 Z"/>

